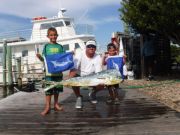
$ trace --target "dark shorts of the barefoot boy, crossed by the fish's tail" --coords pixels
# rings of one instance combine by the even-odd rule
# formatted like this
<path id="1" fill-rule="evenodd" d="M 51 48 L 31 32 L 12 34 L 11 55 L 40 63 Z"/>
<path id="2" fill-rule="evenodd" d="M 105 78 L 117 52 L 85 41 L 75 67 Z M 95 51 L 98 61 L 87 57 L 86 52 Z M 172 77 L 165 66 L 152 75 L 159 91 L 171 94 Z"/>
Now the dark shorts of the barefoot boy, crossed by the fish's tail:
<path id="1" fill-rule="evenodd" d="M 60 81 L 62 81 L 62 79 L 63 79 L 63 76 L 46 76 L 45 77 L 46 81 L 60 82 Z M 49 85 L 46 85 L 46 86 L 49 86 Z M 46 91 L 45 95 L 49 96 L 49 95 L 59 94 L 60 92 L 63 92 L 63 86 L 62 85 L 58 85 L 58 86 Z"/>

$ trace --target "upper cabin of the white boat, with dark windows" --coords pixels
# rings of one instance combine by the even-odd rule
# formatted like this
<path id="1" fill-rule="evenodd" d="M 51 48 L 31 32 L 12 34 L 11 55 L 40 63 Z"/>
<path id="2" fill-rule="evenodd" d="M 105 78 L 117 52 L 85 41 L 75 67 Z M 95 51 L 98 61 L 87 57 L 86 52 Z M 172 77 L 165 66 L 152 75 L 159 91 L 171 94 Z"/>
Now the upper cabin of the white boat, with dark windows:
<path id="1" fill-rule="evenodd" d="M 46 18 L 44 16 L 38 16 L 32 19 L 33 29 L 31 34 L 31 40 L 48 40 L 47 39 L 47 29 L 50 27 L 55 27 L 58 31 L 59 39 L 67 38 L 70 36 L 75 36 L 75 29 L 73 27 L 73 19 L 69 17 L 64 17 L 63 13 L 65 9 L 61 9 L 58 12 L 58 16 L 53 18 Z"/>

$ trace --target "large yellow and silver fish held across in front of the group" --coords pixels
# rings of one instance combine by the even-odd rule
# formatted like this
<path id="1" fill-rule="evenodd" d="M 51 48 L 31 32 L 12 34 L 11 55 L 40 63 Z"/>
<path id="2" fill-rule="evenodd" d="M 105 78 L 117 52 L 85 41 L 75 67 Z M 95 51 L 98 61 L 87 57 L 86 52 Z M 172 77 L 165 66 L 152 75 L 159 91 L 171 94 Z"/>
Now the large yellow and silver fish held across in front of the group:
<path id="1" fill-rule="evenodd" d="M 119 84 L 122 81 L 121 74 L 119 70 L 109 69 L 103 70 L 98 73 L 82 76 L 73 77 L 67 80 L 62 80 L 61 82 L 50 82 L 51 85 L 44 89 L 47 91 L 57 85 L 63 85 L 66 87 L 70 86 L 97 86 L 97 85 L 114 85 Z"/>

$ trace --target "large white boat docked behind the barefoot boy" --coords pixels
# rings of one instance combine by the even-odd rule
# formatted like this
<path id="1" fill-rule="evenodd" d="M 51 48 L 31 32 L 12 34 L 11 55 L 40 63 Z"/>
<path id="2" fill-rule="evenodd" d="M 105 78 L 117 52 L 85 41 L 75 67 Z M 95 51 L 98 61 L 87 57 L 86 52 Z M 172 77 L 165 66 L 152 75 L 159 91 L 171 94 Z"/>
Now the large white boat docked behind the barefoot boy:
<path id="1" fill-rule="evenodd" d="M 66 51 L 73 51 L 77 48 L 85 49 L 85 43 L 90 39 L 95 39 L 91 34 L 76 34 L 73 19 L 64 16 L 65 9 L 61 9 L 58 16 L 52 18 L 35 17 L 32 19 L 33 28 L 30 40 L 18 38 L 7 43 L 12 48 L 13 58 L 22 58 L 22 72 L 35 72 L 35 69 L 43 69 L 42 63 L 36 58 L 36 50 L 42 51 L 43 45 L 49 42 L 47 29 L 55 27 L 58 31 L 57 42 L 63 45 Z M 3 43 L 0 43 L 0 83 L 2 82 L 2 57 Z M 14 65 L 14 64 L 13 64 Z M 42 72 L 36 71 L 36 72 Z"/>

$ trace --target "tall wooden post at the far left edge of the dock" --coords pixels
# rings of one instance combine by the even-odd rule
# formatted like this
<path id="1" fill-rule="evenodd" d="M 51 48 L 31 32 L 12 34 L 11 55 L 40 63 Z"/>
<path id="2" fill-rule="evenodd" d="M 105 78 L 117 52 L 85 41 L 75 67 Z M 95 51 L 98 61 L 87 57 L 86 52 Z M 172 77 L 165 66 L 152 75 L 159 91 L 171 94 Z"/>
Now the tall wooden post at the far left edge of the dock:
<path id="1" fill-rule="evenodd" d="M 4 40 L 3 42 L 3 86 L 6 86 L 6 48 L 7 48 L 7 41 Z"/>

